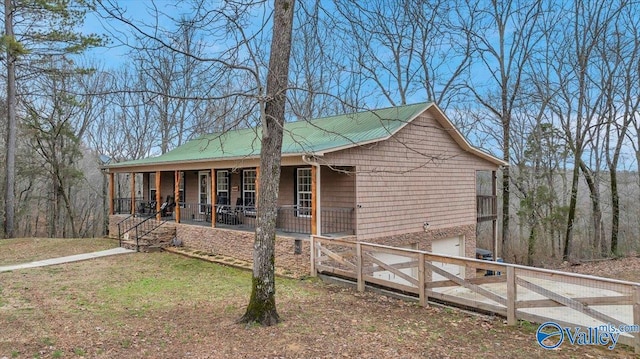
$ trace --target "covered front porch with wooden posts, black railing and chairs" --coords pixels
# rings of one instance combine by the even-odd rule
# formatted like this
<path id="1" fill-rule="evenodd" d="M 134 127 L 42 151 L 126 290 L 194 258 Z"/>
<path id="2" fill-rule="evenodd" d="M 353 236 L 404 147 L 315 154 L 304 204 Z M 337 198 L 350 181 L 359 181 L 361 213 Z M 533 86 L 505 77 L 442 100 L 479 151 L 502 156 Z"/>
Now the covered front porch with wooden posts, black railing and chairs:
<path id="1" fill-rule="evenodd" d="M 213 168 L 110 174 L 110 213 L 253 231 L 260 170 Z M 121 182 L 128 181 L 128 193 Z M 355 169 L 284 166 L 276 230 L 288 236 L 356 234 Z"/>

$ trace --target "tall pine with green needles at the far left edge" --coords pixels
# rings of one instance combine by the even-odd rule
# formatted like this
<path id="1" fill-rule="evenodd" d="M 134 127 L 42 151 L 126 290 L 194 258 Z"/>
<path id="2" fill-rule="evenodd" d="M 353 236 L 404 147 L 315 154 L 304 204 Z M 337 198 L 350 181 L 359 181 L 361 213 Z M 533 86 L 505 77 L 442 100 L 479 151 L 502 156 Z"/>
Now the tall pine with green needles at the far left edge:
<path id="1" fill-rule="evenodd" d="M 77 32 L 89 5 L 84 1 L 4 2 L 7 60 L 7 152 L 4 197 L 4 236 L 15 235 L 15 181 L 18 106 L 22 93 L 29 93 L 28 81 L 37 79 L 50 58 L 80 54 L 103 43 L 100 36 Z M 42 94 L 41 94 L 42 95 Z"/>

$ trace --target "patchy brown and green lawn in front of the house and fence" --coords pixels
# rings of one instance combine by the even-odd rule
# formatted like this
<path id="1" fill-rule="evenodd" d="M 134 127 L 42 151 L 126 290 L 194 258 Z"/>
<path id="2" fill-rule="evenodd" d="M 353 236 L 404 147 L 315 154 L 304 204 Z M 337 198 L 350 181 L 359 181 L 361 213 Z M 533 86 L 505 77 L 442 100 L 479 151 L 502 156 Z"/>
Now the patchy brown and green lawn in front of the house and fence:
<path id="1" fill-rule="evenodd" d="M 114 242 L 0 241 L 0 265 L 74 254 L 65 248 L 77 246 Z M 248 271 L 164 252 L 0 273 L 0 358 L 634 357 L 622 346 L 547 351 L 535 341 L 537 325 L 508 327 L 501 318 L 316 279 L 277 278 L 283 322 L 246 327 L 235 321 L 250 283 Z"/>

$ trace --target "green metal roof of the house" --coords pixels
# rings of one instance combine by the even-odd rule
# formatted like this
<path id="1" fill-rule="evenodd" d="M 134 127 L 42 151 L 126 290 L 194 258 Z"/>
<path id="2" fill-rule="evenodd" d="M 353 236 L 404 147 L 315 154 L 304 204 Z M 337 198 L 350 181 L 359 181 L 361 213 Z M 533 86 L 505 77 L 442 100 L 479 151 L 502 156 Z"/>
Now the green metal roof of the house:
<path id="1" fill-rule="evenodd" d="M 431 103 L 389 107 L 284 126 L 282 154 L 322 154 L 388 138 L 425 111 Z M 191 140 L 157 156 L 108 167 L 125 167 L 201 160 L 252 158 L 260 155 L 262 128 L 213 133 Z"/>

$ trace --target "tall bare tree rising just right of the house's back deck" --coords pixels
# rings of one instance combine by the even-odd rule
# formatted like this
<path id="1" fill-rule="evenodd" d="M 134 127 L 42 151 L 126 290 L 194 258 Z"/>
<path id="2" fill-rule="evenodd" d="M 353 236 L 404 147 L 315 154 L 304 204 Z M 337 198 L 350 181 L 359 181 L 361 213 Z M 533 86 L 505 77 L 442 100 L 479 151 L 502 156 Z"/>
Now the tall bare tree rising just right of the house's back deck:
<path id="1" fill-rule="evenodd" d="M 511 122 L 523 95 L 523 77 L 544 32 L 538 20 L 543 2 L 536 1 L 467 1 L 464 13 L 478 17 L 468 22 L 473 51 L 487 76 L 469 79 L 469 90 L 497 120 L 501 129 L 502 158 L 511 160 Z M 476 64 L 478 66 L 478 64 Z M 475 68 L 480 71 L 479 68 Z M 475 74 L 475 72 L 474 72 Z M 511 233 L 511 177 L 509 168 L 502 170 L 502 252 L 508 251 Z"/>

